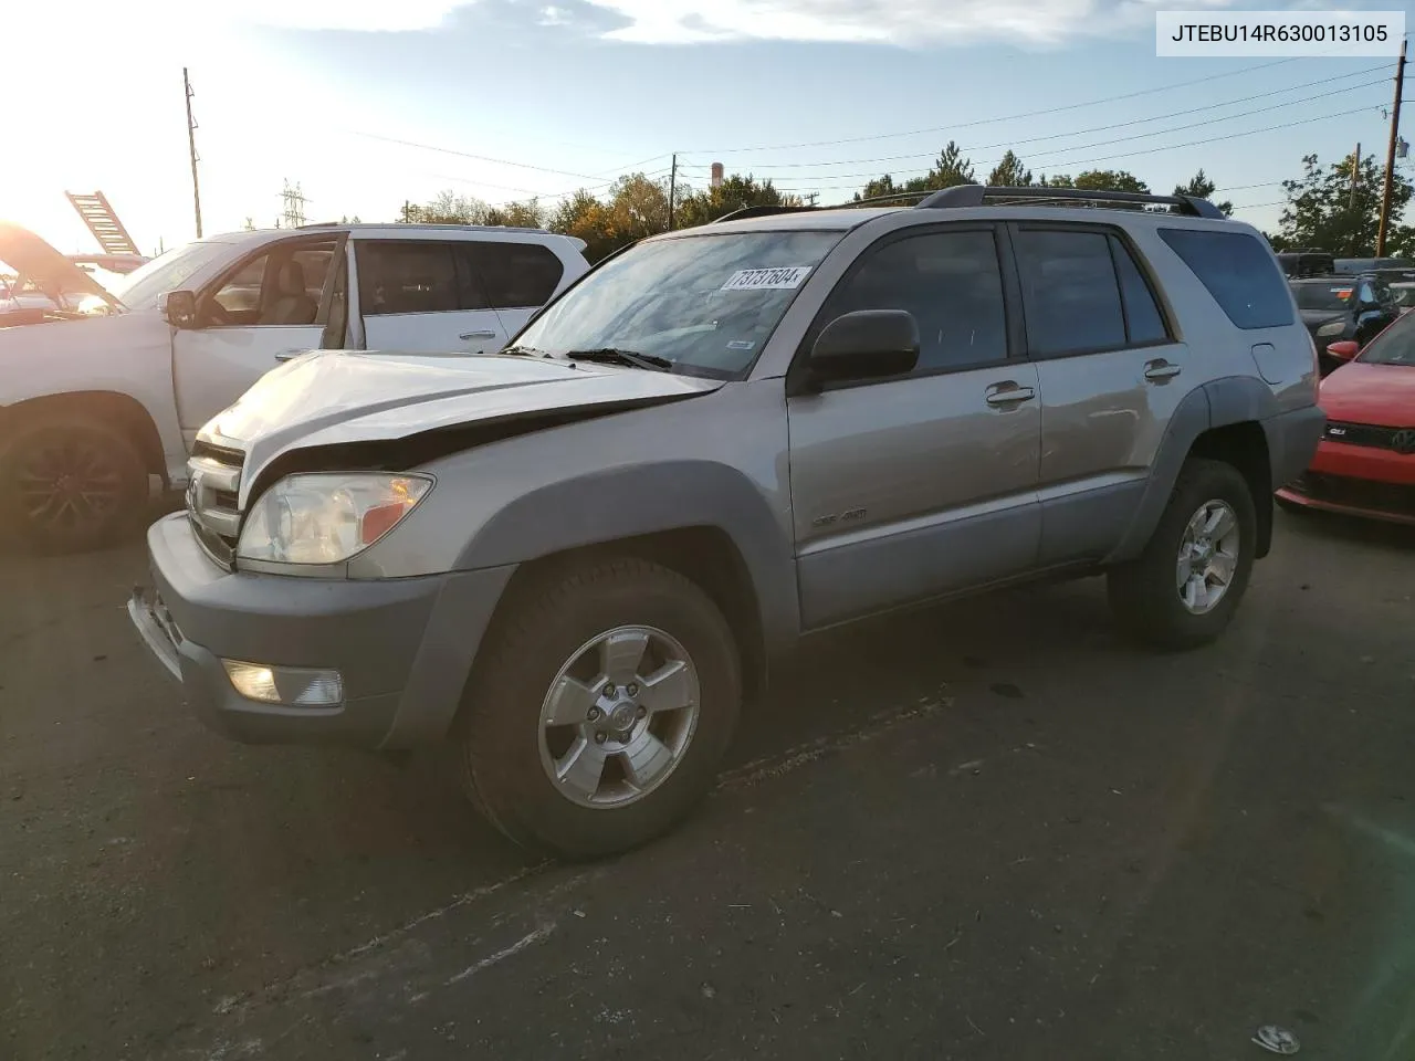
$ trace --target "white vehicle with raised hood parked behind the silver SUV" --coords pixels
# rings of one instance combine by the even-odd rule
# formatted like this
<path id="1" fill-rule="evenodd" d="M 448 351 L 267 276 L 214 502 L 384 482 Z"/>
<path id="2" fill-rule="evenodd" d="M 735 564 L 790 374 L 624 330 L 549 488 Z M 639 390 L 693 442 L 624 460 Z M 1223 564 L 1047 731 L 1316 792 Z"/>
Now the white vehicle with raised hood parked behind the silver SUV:
<path id="1" fill-rule="evenodd" d="M 308 225 L 235 232 L 149 262 L 109 291 L 34 233 L 0 262 L 88 297 L 0 325 L 0 519 L 55 552 L 98 547 L 185 485 L 197 431 L 308 349 L 473 354 L 504 347 L 589 272 L 542 229 Z"/>

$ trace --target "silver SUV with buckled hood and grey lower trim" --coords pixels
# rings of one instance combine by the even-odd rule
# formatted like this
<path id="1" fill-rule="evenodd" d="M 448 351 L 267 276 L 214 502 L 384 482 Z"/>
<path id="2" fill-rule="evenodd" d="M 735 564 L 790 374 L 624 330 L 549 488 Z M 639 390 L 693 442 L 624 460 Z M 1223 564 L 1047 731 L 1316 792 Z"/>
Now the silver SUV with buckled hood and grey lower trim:
<path id="1" fill-rule="evenodd" d="M 129 610 L 218 730 L 450 737 L 508 836 L 596 856 L 703 795 L 805 635 L 1104 573 L 1128 634 L 1213 639 L 1316 395 L 1271 248 L 1203 199 L 746 211 L 499 354 L 266 376 L 202 430 Z"/>

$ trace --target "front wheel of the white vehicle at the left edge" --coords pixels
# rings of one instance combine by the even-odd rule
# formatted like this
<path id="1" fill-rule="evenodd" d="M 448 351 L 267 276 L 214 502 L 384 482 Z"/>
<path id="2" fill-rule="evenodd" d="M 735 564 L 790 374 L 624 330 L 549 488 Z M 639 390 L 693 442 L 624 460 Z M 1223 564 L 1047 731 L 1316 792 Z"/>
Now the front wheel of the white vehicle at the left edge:
<path id="1" fill-rule="evenodd" d="M 85 489 L 85 487 L 88 487 Z M 35 550 L 82 553 L 130 533 L 147 465 L 122 430 L 76 416 L 23 424 L 0 456 L 6 522 Z"/>

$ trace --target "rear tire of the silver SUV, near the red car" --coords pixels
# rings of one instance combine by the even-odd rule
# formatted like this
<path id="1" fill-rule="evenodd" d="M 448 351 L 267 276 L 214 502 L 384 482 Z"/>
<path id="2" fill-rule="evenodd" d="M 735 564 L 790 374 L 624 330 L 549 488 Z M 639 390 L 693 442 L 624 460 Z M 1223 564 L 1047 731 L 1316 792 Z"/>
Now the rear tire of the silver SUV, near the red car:
<path id="1" fill-rule="evenodd" d="M 1214 506 L 1206 508 L 1211 502 Z M 1231 545 L 1227 536 L 1215 540 L 1213 560 L 1201 560 L 1204 566 L 1200 569 L 1193 563 L 1191 555 L 1187 570 L 1200 574 L 1200 570 L 1227 569 L 1228 560 L 1223 564 L 1218 562 L 1231 552 L 1231 574 L 1214 603 L 1208 604 L 1196 593 L 1196 603 L 1200 607 L 1208 604 L 1206 610 L 1196 613 L 1182 597 L 1180 547 L 1186 542 L 1190 522 L 1199 519 L 1201 509 L 1211 521 L 1213 515 L 1220 512 L 1220 506 L 1227 508 L 1232 516 L 1237 543 Z M 1213 538 L 1218 539 L 1220 535 Z M 1199 540 L 1201 543 L 1206 538 L 1200 536 Z M 1248 589 L 1257 540 L 1257 511 L 1242 474 L 1223 461 L 1190 458 L 1180 470 L 1169 504 L 1145 552 L 1108 573 L 1111 608 L 1121 628 L 1143 644 L 1172 651 L 1197 648 L 1214 641 L 1227 630 Z M 1204 579 L 1203 586 L 1210 590 L 1210 580 Z M 1217 586 L 1218 583 L 1213 581 L 1211 589 Z"/>

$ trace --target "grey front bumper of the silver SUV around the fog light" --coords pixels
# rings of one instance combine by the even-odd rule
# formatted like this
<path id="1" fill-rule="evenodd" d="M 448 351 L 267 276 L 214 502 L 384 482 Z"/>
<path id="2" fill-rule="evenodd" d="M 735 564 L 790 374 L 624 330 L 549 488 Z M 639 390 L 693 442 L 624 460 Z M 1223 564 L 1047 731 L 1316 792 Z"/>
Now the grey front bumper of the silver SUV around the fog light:
<path id="1" fill-rule="evenodd" d="M 127 611 L 211 729 L 245 743 L 406 748 L 443 737 L 514 567 L 419 579 L 232 573 L 184 514 L 147 532 L 153 589 Z M 338 671 L 344 700 L 294 707 L 242 697 L 222 659 Z"/>

